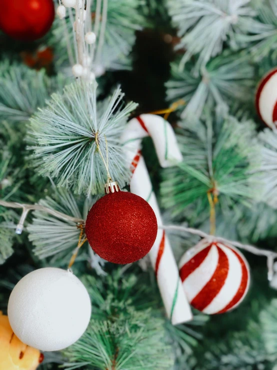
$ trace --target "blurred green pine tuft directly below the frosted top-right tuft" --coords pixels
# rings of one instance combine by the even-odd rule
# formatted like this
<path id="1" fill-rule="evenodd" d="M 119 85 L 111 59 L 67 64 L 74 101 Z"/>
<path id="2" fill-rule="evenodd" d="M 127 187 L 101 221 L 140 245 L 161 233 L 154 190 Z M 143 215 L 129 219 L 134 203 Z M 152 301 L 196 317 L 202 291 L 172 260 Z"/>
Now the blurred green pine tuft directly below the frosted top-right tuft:
<path id="1" fill-rule="evenodd" d="M 199 118 L 205 105 L 227 112 L 230 102 L 235 101 L 245 110 L 252 101 L 254 68 L 247 54 L 222 53 L 201 68 L 197 76 L 191 71 L 193 65 L 191 61 L 180 71 L 178 60 L 171 63 L 171 76 L 165 84 L 170 103 L 179 99 L 186 103 L 181 118 Z"/>

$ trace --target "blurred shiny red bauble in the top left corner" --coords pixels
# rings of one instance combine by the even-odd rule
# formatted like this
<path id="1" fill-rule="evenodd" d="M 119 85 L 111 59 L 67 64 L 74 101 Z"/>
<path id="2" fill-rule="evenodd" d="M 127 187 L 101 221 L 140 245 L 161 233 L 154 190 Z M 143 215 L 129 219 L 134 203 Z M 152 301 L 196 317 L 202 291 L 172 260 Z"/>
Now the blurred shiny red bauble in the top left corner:
<path id="1" fill-rule="evenodd" d="M 53 0 L 1 0 L 0 30 L 13 39 L 34 41 L 49 31 Z"/>

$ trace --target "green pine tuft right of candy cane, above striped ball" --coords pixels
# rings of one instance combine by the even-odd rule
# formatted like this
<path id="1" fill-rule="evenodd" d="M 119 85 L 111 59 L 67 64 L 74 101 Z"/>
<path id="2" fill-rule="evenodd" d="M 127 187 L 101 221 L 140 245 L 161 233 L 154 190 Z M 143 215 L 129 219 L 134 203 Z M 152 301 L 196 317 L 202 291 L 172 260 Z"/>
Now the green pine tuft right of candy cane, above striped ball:
<path id="1" fill-rule="evenodd" d="M 223 122 L 181 121 L 178 143 L 183 161 L 163 170 L 162 204 L 173 216 L 195 224 L 198 217 L 209 215 L 207 194 L 218 198 L 217 209 L 223 214 L 237 204 L 251 204 L 259 196 L 259 183 L 251 174 L 257 166 L 258 149 L 251 121 L 239 123 L 227 116 Z"/>

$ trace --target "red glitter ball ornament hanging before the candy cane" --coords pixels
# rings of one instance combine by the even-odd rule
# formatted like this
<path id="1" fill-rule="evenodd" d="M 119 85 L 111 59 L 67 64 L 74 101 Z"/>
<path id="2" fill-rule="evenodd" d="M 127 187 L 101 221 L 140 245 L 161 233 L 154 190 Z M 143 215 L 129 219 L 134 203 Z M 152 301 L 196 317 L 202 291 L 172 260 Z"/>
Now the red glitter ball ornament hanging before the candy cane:
<path id="1" fill-rule="evenodd" d="M 88 212 L 85 233 L 91 248 L 112 263 L 131 263 L 144 257 L 157 235 L 157 220 L 149 204 L 138 195 L 106 184 L 106 195 Z"/>

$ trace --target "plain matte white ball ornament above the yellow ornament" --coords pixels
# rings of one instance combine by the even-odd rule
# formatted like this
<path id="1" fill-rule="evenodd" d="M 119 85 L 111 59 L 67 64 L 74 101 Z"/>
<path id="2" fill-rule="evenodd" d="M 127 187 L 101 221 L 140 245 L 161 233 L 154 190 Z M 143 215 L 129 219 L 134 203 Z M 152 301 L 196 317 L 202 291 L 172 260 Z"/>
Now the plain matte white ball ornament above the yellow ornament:
<path id="1" fill-rule="evenodd" d="M 46 267 L 24 276 L 7 307 L 15 335 L 25 344 L 55 351 L 73 344 L 90 319 L 89 295 L 70 271 Z"/>

